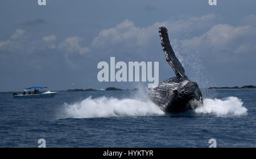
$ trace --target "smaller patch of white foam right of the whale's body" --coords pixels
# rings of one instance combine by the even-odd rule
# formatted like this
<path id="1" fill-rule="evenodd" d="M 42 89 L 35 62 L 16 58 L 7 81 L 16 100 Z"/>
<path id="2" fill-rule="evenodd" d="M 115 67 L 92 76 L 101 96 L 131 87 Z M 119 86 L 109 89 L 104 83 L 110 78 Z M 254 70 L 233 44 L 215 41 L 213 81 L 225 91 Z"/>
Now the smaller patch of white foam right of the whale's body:
<path id="1" fill-rule="evenodd" d="M 243 102 L 237 97 L 227 97 L 220 99 L 204 100 L 204 106 L 195 109 L 196 114 L 212 114 L 216 116 L 239 116 L 246 115 L 247 109 L 243 106 Z"/>

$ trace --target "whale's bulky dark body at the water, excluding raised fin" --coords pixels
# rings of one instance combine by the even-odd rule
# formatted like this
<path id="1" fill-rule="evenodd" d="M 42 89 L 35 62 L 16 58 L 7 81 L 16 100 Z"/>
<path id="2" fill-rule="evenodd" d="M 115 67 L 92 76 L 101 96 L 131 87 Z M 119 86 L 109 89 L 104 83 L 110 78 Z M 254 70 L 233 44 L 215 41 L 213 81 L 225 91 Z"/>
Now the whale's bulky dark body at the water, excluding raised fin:
<path id="1" fill-rule="evenodd" d="M 171 78 L 148 91 L 151 100 L 166 113 L 182 113 L 203 105 L 198 85 L 187 78 Z"/>

